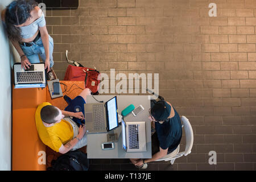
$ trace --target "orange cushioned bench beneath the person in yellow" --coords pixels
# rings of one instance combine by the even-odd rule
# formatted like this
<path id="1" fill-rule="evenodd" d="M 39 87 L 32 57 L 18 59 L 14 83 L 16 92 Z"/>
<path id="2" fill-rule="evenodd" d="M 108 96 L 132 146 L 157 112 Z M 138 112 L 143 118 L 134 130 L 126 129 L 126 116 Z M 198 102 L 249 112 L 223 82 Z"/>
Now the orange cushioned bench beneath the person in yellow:
<path id="1" fill-rule="evenodd" d="M 72 99 L 82 91 L 77 89 L 77 86 L 84 89 L 84 81 L 60 82 L 67 85 L 67 91 L 69 91 L 63 95 L 67 94 Z M 62 84 L 61 89 L 64 92 L 65 89 Z M 35 111 L 42 102 L 49 102 L 61 110 L 64 110 L 68 105 L 63 97 L 52 100 L 49 95 L 48 86 L 44 89 L 13 88 L 12 170 L 14 171 L 46 170 L 46 164 L 42 164 L 41 159 L 43 154 L 46 154 L 47 147 L 41 142 L 35 124 Z"/>

